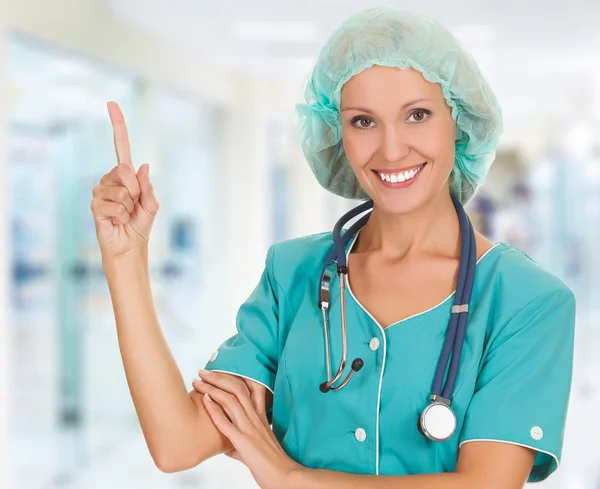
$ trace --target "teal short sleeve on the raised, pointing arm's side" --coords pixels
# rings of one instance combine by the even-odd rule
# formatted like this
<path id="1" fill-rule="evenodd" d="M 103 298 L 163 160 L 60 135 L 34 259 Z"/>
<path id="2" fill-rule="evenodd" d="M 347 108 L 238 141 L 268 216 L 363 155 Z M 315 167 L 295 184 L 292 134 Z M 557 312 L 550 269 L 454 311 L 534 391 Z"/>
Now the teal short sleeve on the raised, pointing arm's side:
<path id="1" fill-rule="evenodd" d="M 238 310 L 237 333 L 213 353 L 206 370 L 248 378 L 273 392 L 278 359 L 278 311 L 271 246 L 260 281 Z"/>

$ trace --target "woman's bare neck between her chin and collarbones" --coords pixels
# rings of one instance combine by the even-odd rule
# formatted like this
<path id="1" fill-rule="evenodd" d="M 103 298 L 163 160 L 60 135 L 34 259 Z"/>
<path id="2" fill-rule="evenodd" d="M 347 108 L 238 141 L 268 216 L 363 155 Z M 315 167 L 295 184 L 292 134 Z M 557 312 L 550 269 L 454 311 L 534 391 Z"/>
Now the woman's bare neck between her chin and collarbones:
<path id="1" fill-rule="evenodd" d="M 373 205 L 369 221 L 360 231 L 356 252 L 376 252 L 391 260 L 408 256 L 460 256 L 460 224 L 450 194 L 408 214 L 389 214 Z"/>

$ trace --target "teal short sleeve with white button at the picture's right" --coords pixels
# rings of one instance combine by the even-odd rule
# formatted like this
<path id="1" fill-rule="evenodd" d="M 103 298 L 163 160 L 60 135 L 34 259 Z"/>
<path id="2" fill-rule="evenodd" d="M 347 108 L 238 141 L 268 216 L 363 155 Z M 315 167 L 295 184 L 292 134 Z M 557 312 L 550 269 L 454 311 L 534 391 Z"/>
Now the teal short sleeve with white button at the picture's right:
<path id="1" fill-rule="evenodd" d="M 460 445 L 487 440 L 533 448 L 537 455 L 527 482 L 542 481 L 561 459 L 573 372 L 575 296 L 567 287 L 542 294 L 500 328 L 484 357 Z"/>

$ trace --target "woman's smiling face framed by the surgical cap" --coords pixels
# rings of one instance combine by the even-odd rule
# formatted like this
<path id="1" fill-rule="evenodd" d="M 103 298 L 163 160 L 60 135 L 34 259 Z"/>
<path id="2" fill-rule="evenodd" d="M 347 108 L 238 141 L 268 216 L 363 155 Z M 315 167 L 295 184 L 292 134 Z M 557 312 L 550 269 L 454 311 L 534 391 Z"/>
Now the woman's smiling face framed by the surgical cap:
<path id="1" fill-rule="evenodd" d="M 384 212 L 412 212 L 448 189 L 456 123 L 439 84 L 374 65 L 342 87 L 340 115 L 352 169 Z"/>

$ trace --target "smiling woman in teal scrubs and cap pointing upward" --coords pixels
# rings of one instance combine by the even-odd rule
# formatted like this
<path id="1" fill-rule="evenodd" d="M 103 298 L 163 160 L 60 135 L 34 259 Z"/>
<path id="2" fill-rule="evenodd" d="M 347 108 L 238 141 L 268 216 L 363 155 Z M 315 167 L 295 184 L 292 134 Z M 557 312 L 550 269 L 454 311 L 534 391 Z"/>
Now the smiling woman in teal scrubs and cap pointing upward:
<path id="1" fill-rule="evenodd" d="M 368 9 L 333 33 L 298 113 L 321 185 L 372 200 L 343 249 L 348 358 L 362 368 L 353 364 L 343 389 L 322 388 L 330 378 L 317 307 L 333 248 L 326 232 L 270 247 L 238 333 L 185 396 L 149 312 L 145 243 L 158 204 L 147 166 L 136 179 L 128 147 L 119 148 L 126 132 L 111 107 L 117 153 L 130 166 L 105 177 L 95 215 L 125 370 L 157 465 L 183 470 L 227 453 L 263 489 L 518 488 L 548 477 L 561 456 L 575 298 L 527 255 L 477 232 L 468 328 L 449 396 L 455 425 L 434 441 L 419 424 L 455 313 L 465 246 L 459 210 L 485 178 L 502 132 L 496 98 L 471 56 L 429 17 Z M 333 372 L 342 356 L 337 285 L 333 275 Z"/>

